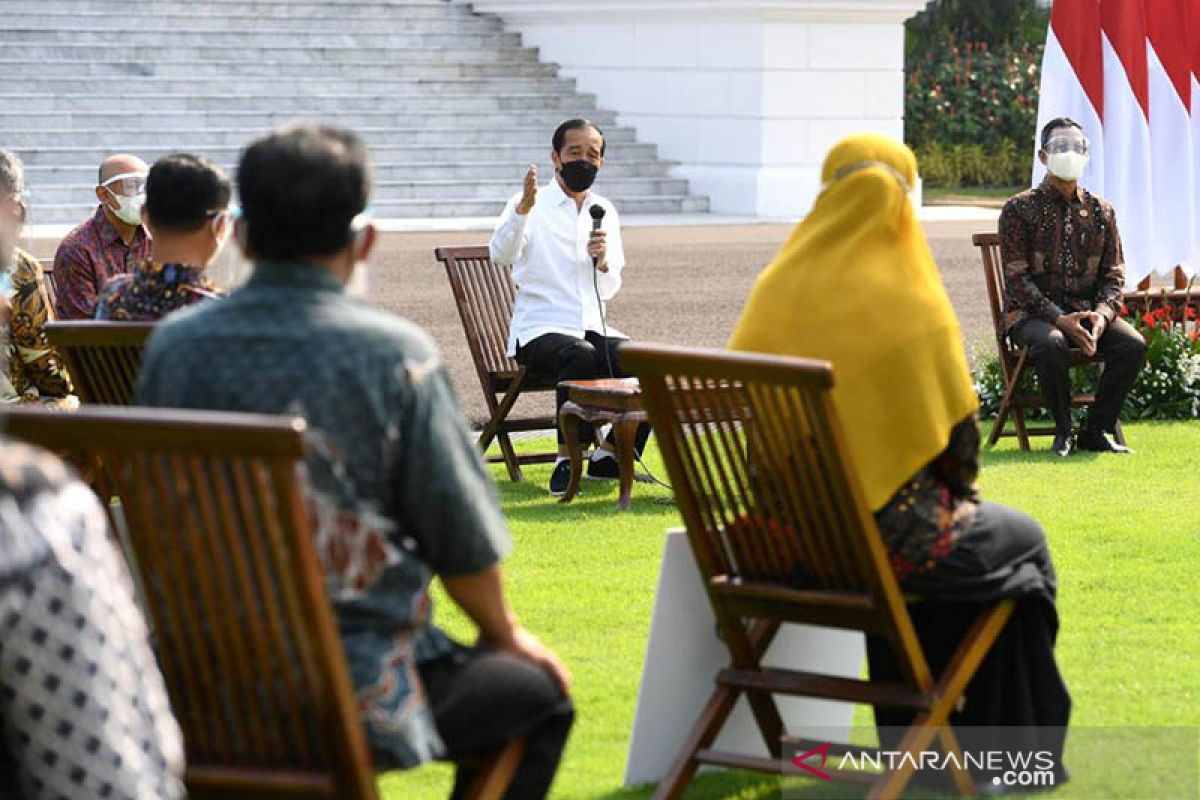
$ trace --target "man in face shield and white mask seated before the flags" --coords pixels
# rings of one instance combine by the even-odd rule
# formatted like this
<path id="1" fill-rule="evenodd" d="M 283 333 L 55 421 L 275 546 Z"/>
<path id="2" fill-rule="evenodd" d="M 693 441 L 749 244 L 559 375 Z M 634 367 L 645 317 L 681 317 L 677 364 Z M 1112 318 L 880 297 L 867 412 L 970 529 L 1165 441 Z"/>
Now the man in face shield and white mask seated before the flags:
<path id="1" fill-rule="evenodd" d="M 1146 360 L 1146 342 L 1121 319 L 1124 254 L 1112 206 L 1079 185 L 1087 137 L 1074 120 L 1042 130 L 1045 180 L 1012 198 L 1000 216 L 1008 336 L 1030 348 L 1055 421 L 1051 449 L 1069 456 L 1130 452 L 1109 438 Z M 1104 361 L 1096 402 L 1074 437 L 1069 348 Z"/>

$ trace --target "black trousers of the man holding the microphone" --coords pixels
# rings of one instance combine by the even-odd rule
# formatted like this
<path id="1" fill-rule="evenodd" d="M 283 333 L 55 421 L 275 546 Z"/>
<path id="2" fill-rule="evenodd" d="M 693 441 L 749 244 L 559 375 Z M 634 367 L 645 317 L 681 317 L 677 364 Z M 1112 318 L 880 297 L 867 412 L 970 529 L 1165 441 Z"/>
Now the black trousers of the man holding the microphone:
<path id="1" fill-rule="evenodd" d="M 563 380 L 590 380 L 594 378 L 628 378 L 620 368 L 618 348 L 625 339 L 605 338 L 595 331 L 587 331 L 583 338 L 565 333 L 544 333 L 532 342 L 517 344 L 517 363 L 532 374 L 552 378 L 556 383 Z M 607 354 L 607 357 L 606 355 Z M 612 374 L 608 373 L 610 367 Z M 566 390 L 556 392 L 554 417 L 566 402 Z M 637 452 L 641 453 L 649 438 L 650 426 L 642 425 L 637 429 Z M 580 441 L 584 445 L 595 438 L 594 428 L 588 423 L 580 425 Z M 612 434 L 608 437 L 612 443 Z M 563 429 L 558 428 L 558 444 L 563 444 Z"/>

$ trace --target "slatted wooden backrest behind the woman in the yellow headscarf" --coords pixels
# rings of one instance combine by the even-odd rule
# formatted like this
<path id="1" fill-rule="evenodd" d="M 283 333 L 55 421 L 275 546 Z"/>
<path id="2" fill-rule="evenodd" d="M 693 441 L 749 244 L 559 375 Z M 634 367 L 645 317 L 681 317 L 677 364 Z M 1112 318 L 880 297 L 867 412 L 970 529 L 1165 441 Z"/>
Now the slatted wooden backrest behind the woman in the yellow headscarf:
<path id="1" fill-rule="evenodd" d="M 629 344 L 704 581 L 858 596 L 907 612 L 866 509 L 824 361 Z M 902 620 L 901 620 L 902 618 Z"/>

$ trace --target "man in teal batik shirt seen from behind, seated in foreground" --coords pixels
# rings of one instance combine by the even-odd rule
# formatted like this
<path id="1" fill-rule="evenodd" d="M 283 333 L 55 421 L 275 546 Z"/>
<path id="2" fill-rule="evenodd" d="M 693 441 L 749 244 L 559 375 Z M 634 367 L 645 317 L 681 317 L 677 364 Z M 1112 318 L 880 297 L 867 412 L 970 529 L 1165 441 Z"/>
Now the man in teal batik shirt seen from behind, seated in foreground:
<path id="1" fill-rule="evenodd" d="M 542 798 L 574 718 L 569 676 L 508 607 L 509 534 L 432 341 L 346 291 L 376 243 L 370 190 L 347 131 L 295 126 L 252 144 L 235 235 L 253 277 L 163 320 L 138 401 L 304 416 L 316 551 L 377 766 L 522 739 L 506 796 Z M 433 575 L 476 646 L 433 625 Z M 460 766 L 456 793 L 473 776 Z"/>

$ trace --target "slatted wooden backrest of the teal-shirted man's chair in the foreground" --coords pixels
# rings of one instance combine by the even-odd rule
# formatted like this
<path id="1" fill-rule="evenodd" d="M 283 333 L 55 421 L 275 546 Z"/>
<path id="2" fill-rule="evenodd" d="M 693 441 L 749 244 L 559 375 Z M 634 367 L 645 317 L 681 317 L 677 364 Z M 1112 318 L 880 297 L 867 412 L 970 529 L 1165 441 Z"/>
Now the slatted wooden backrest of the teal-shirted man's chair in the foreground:
<path id="1" fill-rule="evenodd" d="M 298 477 L 302 420 L 10 408 L 0 431 L 103 463 L 191 796 L 377 798 Z"/>

